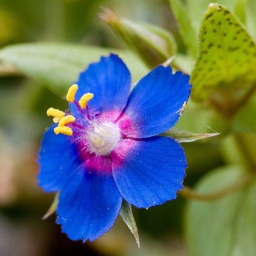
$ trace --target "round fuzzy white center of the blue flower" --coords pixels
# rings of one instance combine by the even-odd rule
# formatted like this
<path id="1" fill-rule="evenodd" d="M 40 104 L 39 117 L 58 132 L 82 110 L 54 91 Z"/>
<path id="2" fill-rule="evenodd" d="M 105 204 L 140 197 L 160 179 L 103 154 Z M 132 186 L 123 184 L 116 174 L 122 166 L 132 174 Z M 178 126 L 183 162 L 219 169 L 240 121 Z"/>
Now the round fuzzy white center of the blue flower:
<path id="1" fill-rule="evenodd" d="M 112 122 L 92 124 L 87 134 L 91 152 L 101 156 L 109 155 L 121 138 L 119 127 Z"/>

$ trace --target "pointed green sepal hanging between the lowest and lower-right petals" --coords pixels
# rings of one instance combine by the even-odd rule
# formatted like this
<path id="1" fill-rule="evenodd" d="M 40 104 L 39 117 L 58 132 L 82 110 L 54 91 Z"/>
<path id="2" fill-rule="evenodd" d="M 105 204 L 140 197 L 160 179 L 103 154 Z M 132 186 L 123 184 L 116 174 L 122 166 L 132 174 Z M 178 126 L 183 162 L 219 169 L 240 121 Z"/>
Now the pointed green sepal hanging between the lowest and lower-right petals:
<path id="1" fill-rule="evenodd" d="M 138 229 L 137 229 L 135 219 L 133 217 L 131 204 L 128 203 L 127 201 L 123 200 L 119 214 L 121 215 L 121 217 L 122 217 L 123 221 L 125 222 L 125 224 L 127 225 L 127 227 L 129 227 L 129 229 L 133 233 L 133 235 L 136 239 L 136 243 L 138 244 L 138 247 L 140 248 Z"/>

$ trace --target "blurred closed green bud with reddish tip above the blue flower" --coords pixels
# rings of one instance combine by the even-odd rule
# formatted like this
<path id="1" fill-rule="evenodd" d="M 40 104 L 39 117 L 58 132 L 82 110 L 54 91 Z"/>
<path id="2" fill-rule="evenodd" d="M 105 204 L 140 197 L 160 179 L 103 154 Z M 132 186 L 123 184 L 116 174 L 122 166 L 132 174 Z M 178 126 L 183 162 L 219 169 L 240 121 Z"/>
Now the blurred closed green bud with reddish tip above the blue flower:
<path id="1" fill-rule="evenodd" d="M 105 13 L 100 15 L 101 19 L 148 67 L 156 67 L 176 53 L 175 40 L 168 31 L 151 24 L 120 18 L 109 8 L 103 10 Z"/>

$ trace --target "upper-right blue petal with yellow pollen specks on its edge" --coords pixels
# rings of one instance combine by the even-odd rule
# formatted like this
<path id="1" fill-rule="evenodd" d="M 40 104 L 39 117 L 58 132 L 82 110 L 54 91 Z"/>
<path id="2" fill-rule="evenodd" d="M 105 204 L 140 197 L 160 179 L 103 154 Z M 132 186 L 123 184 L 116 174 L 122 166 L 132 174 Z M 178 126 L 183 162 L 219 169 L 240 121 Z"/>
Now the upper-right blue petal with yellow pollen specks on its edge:
<path id="1" fill-rule="evenodd" d="M 142 78 L 132 91 L 125 114 L 130 116 L 136 138 L 163 133 L 178 121 L 190 95 L 189 75 L 159 66 Z M 134 137 L 134 132 L 127 132 Z"/>

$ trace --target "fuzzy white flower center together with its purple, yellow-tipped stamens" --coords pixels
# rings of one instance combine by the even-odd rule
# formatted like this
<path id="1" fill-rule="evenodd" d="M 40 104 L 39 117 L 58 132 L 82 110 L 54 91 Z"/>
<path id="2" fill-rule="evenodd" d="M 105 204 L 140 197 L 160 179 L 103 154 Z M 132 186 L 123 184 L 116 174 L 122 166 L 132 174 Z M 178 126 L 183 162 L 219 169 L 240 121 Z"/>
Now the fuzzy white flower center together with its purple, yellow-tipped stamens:
<path id="1" fill-rule="evenodd" d="M 53 116 L 53 121 L 58 123 L 54 132 L 69 135 L 71 142 L 79 143 L 86 152 L 100 156 L 109 155 L 121 139 L 119 126 L 107 119 L 102 120 L 97 112 L 89 109 L 87 103 L 93 98 L 92 93 L 86 93 L 79 101 L 76 100 L 77 90 L 77 84 L 73 84 L 67 94 L 67 100 L 73 102 L 80 112 L 77 119 L 67 112 L 53 108 L 47 111 L 47 115 Z"/>

